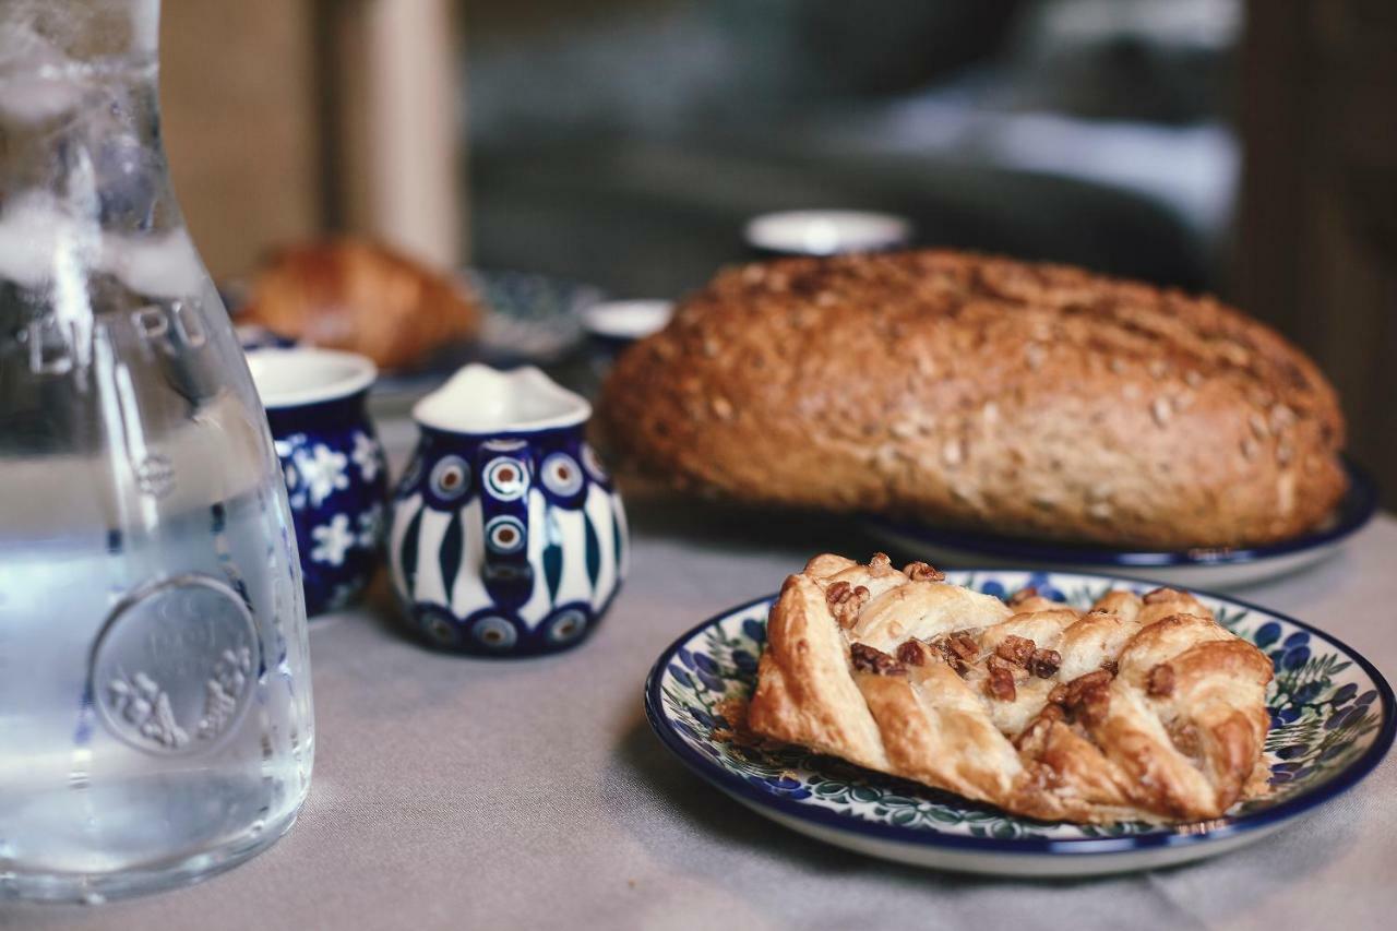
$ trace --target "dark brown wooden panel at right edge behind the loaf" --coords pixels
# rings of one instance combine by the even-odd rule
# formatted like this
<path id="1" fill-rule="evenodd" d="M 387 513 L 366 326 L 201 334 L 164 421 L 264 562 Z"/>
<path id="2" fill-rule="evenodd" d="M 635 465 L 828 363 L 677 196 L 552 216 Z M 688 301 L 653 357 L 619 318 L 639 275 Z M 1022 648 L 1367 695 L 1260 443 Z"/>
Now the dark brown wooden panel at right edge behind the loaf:
<path id="1" fill-rule="evenodd" d="M 1397 506 L 1397 4 L 1250 0 L 1241 306 L 1334 380 Z"/>

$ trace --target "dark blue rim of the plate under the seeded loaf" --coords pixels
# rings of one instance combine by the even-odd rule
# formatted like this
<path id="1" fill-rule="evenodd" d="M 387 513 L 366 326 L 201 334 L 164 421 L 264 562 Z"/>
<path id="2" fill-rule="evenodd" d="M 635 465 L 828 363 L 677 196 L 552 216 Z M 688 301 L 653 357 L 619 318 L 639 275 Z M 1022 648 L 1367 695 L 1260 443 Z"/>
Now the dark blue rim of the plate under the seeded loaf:
<path id="1" fill-rule="evenodd" d="M 1344 474 L 1348 477 L 1348 491 L 1334 506 L 1329 521 L 1299 537 L 1246 548 L 1197 548 L 1197 549 L 1127 549 L 1115 547 L 1094 547 L 1090 544 L 1066 544 L 1024 537 L 964 530 L 956 527 L 935 527 L 908 520 L 897 520 L 883 514 L 865 514 L 863 523 L 877 533 L 887 533 L 907 540 L 915 540 L 930 547 L 944 547 L 964 552 L 967 558 L 1006 559 L 1014 562 L 1069 562 L 1077 566 L 1123 566 L 1127 570 L 1147 572 L 1168 566 L 1235 566 L 1264 559 L 1289 556 L 1298 552 L 1323 549 L 1354 535 L 1368 526 L 1377 513 L 1380 495 L 1377 481 L 1347 456 Z"/>

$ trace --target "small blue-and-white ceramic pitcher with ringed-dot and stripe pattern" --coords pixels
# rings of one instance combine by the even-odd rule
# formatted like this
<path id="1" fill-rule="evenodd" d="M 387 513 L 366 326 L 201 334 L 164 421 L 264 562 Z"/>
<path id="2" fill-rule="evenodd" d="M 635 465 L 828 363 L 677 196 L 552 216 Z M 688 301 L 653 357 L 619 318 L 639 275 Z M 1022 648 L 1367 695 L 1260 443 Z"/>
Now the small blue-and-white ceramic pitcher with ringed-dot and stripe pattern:
<path id="1" fill-rule="evenodd" d="M 468 365 L 412 417 L 388 565 L 414 625 L 482 656 L 581 643 L 627 563 L 626 512 L 584 436 L 591 405 L 535 368 Z"/>

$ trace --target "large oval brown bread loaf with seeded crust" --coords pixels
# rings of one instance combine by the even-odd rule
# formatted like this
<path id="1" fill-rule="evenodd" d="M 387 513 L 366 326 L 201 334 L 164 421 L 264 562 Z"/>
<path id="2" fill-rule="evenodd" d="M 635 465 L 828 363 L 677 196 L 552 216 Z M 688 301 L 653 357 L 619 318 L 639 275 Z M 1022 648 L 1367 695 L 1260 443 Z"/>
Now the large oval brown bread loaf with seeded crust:
<path id="1" fill-rule="evenodd" d="M 722 271 L 601 412 L 680 486 L 1112 545 L 1271 542 L 1345 489 L 1334 390 L 1266 326 L 944 250 Z"/>

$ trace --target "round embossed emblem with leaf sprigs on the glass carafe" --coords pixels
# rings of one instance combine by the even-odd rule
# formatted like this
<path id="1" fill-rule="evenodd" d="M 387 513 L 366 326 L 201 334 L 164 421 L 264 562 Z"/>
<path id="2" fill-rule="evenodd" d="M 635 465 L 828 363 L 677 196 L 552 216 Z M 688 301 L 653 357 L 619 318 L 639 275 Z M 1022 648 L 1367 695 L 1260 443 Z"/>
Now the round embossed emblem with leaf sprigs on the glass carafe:
<path id="1" fill-rule="evenodd" d="M 242 597 L 211 576 L 183 575 L 113 608 L 92 647 L 89 688 L 119 739 L 152 753 L 198 753 L 237 727 L 260 665 Z"/>

